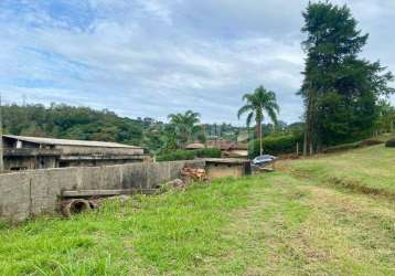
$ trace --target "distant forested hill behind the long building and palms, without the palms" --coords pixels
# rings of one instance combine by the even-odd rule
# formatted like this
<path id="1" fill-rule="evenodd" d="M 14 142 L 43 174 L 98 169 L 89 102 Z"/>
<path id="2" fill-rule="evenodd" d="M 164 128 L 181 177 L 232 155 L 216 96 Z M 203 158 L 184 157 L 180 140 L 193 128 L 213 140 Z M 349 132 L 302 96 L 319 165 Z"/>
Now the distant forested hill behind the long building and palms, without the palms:
<path id="1" fill-rule="evenodd" d="M 158 152 L 172 131 L 169 125 L 153 118 L 131 119 L 120 117 L 107 109 L 95 110 L 89 107 L 75 107 L 64 104 L 6 105 L 2 106 L 6 134 L 36 137 L 53 137 L 76 140 L 115 141 L 143 146 Z M 205 136 L 212 139 L 236 141 L 248 137 L 247 128 L 229 124 L 203 125 Z M 286 128 L 282 123 L 281 130 Z M 169 132 L 170 131 L 170 132 Z M 254 136 L 250 128 L 250 137 Z M 274 131 L 271 125 L 264 125 L 266 135 Z"/>

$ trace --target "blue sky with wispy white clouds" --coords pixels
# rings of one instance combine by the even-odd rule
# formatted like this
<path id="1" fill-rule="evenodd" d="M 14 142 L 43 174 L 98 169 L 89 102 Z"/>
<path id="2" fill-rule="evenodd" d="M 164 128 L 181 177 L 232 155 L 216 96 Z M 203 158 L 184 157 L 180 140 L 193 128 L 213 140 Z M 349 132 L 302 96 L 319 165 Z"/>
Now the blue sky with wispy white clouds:
<path id="1" fill-rule="evenodd" d="M 346 3 L 370 33 L 363 56 L 395 72 L 395 1 Z M 166 120 L 243 125 L 264 85 L 300 120 L 308 0 L 0 0 L 0 92 L 8 104 L 66 103 Z M 392 99 L 395 104 L 395 100 Z"/>

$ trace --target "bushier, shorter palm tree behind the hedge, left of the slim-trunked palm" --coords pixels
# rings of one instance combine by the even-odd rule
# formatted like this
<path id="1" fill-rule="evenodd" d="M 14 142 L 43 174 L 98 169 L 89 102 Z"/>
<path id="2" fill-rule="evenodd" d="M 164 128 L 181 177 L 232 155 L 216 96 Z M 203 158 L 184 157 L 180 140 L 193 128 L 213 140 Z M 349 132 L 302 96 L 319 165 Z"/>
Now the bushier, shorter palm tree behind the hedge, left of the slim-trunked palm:
<path id="1" fill-rule="evenodd" d="M 168 118 L 170 119 L 170 124 L 174 125 L 179 145 L 182 148 L 201 130 L 201 127 L 198 125 L 200 123 L 199 113 L 188 110 L 184 114 L 170 114 Z"/>

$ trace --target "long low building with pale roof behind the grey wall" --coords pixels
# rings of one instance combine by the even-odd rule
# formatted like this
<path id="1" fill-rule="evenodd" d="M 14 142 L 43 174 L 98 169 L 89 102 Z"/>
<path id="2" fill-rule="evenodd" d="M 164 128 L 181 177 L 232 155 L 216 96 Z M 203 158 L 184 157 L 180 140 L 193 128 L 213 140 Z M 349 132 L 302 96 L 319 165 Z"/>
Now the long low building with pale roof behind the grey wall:
<path id="1" fill-rule="evenodd" d="M 148 161 L 142 147 L 116 142 L 3 135 L 6 171 Z"/>

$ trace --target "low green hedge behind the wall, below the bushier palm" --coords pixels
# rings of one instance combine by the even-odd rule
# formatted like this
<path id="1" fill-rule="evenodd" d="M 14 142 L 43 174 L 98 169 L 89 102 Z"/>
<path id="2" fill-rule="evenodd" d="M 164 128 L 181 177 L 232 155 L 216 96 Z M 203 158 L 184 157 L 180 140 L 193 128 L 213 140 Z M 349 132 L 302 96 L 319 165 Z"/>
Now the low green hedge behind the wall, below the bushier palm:
<path id="1" fill-rule="evenodd" d="M 175 150 L 171 153 L 160 155 L 157 161 L 177 161 L 177 160 L 192 160 L 194 158 L 220 158 L 221 150 L 218 148 L 196 149 L 196 150 Z"/>

